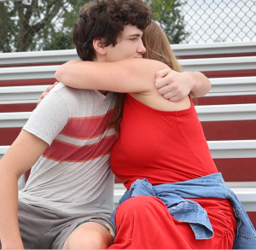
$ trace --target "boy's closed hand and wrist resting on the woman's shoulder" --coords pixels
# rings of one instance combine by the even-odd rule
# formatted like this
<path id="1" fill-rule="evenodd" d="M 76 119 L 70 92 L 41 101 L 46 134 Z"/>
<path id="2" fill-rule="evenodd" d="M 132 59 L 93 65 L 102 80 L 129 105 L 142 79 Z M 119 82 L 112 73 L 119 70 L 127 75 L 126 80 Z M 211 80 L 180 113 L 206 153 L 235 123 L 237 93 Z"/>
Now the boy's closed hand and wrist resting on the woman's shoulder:
<path id="1" fill-rule="evenodd" d="M 192 93 L 205 96 L 211 89 L 209 79 L 200 72 L 178 73 L 166 68 L 156 73 L 155 86 L 166 99 L 177 102 Z"/>

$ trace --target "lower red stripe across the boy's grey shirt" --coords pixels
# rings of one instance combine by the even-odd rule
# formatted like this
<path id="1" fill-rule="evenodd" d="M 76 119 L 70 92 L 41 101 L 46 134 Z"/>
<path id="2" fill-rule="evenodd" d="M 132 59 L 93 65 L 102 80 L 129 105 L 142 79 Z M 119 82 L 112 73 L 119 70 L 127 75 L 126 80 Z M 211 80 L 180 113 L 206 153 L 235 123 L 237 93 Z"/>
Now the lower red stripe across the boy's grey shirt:
<path id="1" fill-rule="evenodd" d="M 67 142 L 55 140 L 51 146 L 44 151 L 43 156 L 55 161 L 84 162 L 94 160 L 103 155 L 110 154 L 113 143 L 116 141 L 116 135 L 103 137 L 100 142 L 85 145 L 83 147 L 75 146 Z"/>

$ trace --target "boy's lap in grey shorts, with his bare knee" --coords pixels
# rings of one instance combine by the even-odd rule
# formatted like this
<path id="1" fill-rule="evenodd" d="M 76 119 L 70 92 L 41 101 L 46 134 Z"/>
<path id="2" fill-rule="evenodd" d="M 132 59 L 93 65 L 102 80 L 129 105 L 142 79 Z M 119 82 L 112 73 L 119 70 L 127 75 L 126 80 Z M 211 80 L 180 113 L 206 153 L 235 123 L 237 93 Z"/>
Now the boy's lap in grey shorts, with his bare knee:
<path id="1" fill-rule="evenodd" d="M 22 201 L 19 201 L 18 215 L 25 248 L 98 249 L 113 244 L 113 226 L 107 216 L 87 214 L 81 217 Z"/>

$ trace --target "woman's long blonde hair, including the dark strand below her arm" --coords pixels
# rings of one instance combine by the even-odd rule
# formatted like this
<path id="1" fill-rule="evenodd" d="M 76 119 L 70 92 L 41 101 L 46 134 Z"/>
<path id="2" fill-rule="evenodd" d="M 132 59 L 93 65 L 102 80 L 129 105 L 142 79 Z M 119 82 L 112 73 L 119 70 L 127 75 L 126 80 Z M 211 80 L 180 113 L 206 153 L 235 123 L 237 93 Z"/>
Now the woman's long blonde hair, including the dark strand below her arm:
<path id="1" fill-rule="evenodd" d="M 143 58 L 161 61 L 177 72 L 182 72 L 182 67 L 179 65 L 177 58 L 172 52 L 168 38 L 165 32 L 153 20 L 143 32 L 143 44 L 147 51 L 143 54 Z M 116 103 L 113 109 L 113 120 L 110 125 L 114 126 L 116 131 L 119 131 L 119 125 L 123 116 L 125 103 L 125 94 L 116 94 Z"/>

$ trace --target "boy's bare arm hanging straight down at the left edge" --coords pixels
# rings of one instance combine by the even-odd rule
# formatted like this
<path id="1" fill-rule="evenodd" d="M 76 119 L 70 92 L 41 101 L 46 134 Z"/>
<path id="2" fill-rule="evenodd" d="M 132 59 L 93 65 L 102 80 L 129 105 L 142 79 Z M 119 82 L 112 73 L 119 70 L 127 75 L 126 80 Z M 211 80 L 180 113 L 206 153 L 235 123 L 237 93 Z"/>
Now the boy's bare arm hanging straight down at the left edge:
<path id="1" fill-rule="evenodd" d="M 2 249 L 22 249 L 18 224 L 18 179 L 36 163 L 48 144 L 21 131 L 0 161 L 0 239 Z M 27 225 L 29 226 L 29 225 Z"/>

